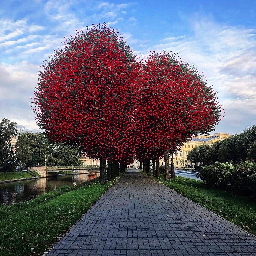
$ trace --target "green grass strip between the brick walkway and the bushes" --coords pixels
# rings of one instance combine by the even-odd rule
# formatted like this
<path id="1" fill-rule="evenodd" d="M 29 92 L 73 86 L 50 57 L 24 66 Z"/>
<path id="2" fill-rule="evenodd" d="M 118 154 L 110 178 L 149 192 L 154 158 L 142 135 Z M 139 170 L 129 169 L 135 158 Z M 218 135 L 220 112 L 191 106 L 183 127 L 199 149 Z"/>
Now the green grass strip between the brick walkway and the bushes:
<path id="1" fill-rule="evenodd" d="M 175 179 L 165 181 L 164 175 L 157 178 L 152 174 L 145 174 L 256 235 L 256 204 L 253 200 L 206 187 L 199 180 L 176 176 Z"/>

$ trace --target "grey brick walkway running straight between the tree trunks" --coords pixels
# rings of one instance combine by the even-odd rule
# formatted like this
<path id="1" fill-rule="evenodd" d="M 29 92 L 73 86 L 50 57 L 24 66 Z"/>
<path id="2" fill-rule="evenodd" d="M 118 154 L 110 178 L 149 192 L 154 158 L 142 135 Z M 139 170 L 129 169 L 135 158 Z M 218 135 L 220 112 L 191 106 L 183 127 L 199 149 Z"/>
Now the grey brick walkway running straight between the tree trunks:
<path id="1" fill-rule="evenodd" d="M 256 239 L 134 170 L 48 254 L 62 255 L 256 255 Z"/>

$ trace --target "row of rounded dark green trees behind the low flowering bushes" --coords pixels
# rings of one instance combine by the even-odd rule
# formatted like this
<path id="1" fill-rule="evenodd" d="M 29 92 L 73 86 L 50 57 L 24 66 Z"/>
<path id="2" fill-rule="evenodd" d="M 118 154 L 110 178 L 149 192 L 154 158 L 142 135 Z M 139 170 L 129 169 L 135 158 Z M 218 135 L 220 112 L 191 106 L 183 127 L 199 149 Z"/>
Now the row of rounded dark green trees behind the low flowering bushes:
<path id="1" fill-rule="evenodd" d="M 252 126 L 242 133 L 221 139 L 210 145 L 200 145 L 187 155 L 191 162 L 203 162 L 204 165 L 215 163 L 239 163 L 245 160 L 256 162 L 256 126 Z"/>

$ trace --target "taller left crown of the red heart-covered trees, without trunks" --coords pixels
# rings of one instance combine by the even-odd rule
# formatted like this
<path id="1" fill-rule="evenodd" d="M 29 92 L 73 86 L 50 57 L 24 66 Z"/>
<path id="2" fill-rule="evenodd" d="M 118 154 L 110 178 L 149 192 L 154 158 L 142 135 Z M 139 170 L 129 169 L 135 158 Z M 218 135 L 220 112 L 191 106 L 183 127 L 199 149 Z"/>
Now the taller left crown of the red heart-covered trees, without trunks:
<path id="1" fill-rule="evenodd" d="M 134 156 L 136 57 L 105 24 L 71 35 L 63 48 L 40 72 L 39 126 L 90 157 L 127 162 Z"/>

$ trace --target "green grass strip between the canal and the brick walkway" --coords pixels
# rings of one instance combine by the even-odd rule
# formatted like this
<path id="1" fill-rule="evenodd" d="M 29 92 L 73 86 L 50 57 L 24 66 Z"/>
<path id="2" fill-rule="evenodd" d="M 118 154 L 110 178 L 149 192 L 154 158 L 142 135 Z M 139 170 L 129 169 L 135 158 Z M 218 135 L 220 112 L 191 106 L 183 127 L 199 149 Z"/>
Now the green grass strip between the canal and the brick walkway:
<path id="1" fill-rule="evenodd" d="M 42 255 L 117 179 L 100 185 L 96 178 L 0 206 L 0 255 Z"/>

